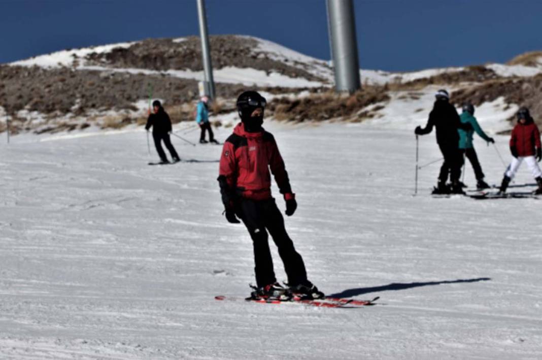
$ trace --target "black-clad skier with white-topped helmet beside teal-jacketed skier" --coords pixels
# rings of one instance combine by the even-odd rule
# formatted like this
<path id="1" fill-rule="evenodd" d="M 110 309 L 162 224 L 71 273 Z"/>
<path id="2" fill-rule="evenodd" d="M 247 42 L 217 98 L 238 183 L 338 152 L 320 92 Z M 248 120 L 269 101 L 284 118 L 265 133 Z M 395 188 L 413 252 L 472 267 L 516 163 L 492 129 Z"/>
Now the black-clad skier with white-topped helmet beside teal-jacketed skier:
<path id="1" fill-rule="evenodd" d="M 438 175 L 438 183 L 433 190 L 433 194 L 464 194 L 461 188 L 459 178 L 461 177 L 461 166 L 463 166 L 463 157 L 459 150 L 459 133 L 458 128 L 469 130 L 469 124 L 461 123 L 459 114 L 455 107 L 450 104 L 450 96 L 444 89 L 437 91 L 435 94 L 436 101 L 433 110 L 429 113 L 429 120 L 424 128 L 417 126 L 414 133 L 416 135 L 428 134 L 436 128 L 436 138 L 438 147 L 444 157 L 440 174 Z M 451 189 L 446 185 L 450 174 Z"/>

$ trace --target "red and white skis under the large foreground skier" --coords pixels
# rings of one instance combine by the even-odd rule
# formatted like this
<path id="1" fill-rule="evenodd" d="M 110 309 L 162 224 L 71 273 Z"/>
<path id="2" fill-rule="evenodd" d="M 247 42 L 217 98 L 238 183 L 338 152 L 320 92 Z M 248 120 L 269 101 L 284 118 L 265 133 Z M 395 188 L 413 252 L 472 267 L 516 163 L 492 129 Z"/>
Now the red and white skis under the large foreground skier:
<path id="1" fill-rule="evenodd" d="M 215 300 L 221 301 L 245 301 L 250 303 L 260 303 L 260 304 L 301 304 L 306 306 L 315 306 L 315 307 L 333 307 L 333 308 L 354 308 L 354 307 L 363 307 L 369 305 L 375 305 L 375 301 L 380 297 L 376 297 L 372 300 L 357 300 L 357 299 L 343 299 L 343 298 L 333 298 L 325 297 L 323 299 L 302 299 L 299 297 L 294 297 L 289 300 L 279 300 L 279 299 L 244 299 L 240 297 L 229 297 L 224 295 L 215 296 Z"/>

